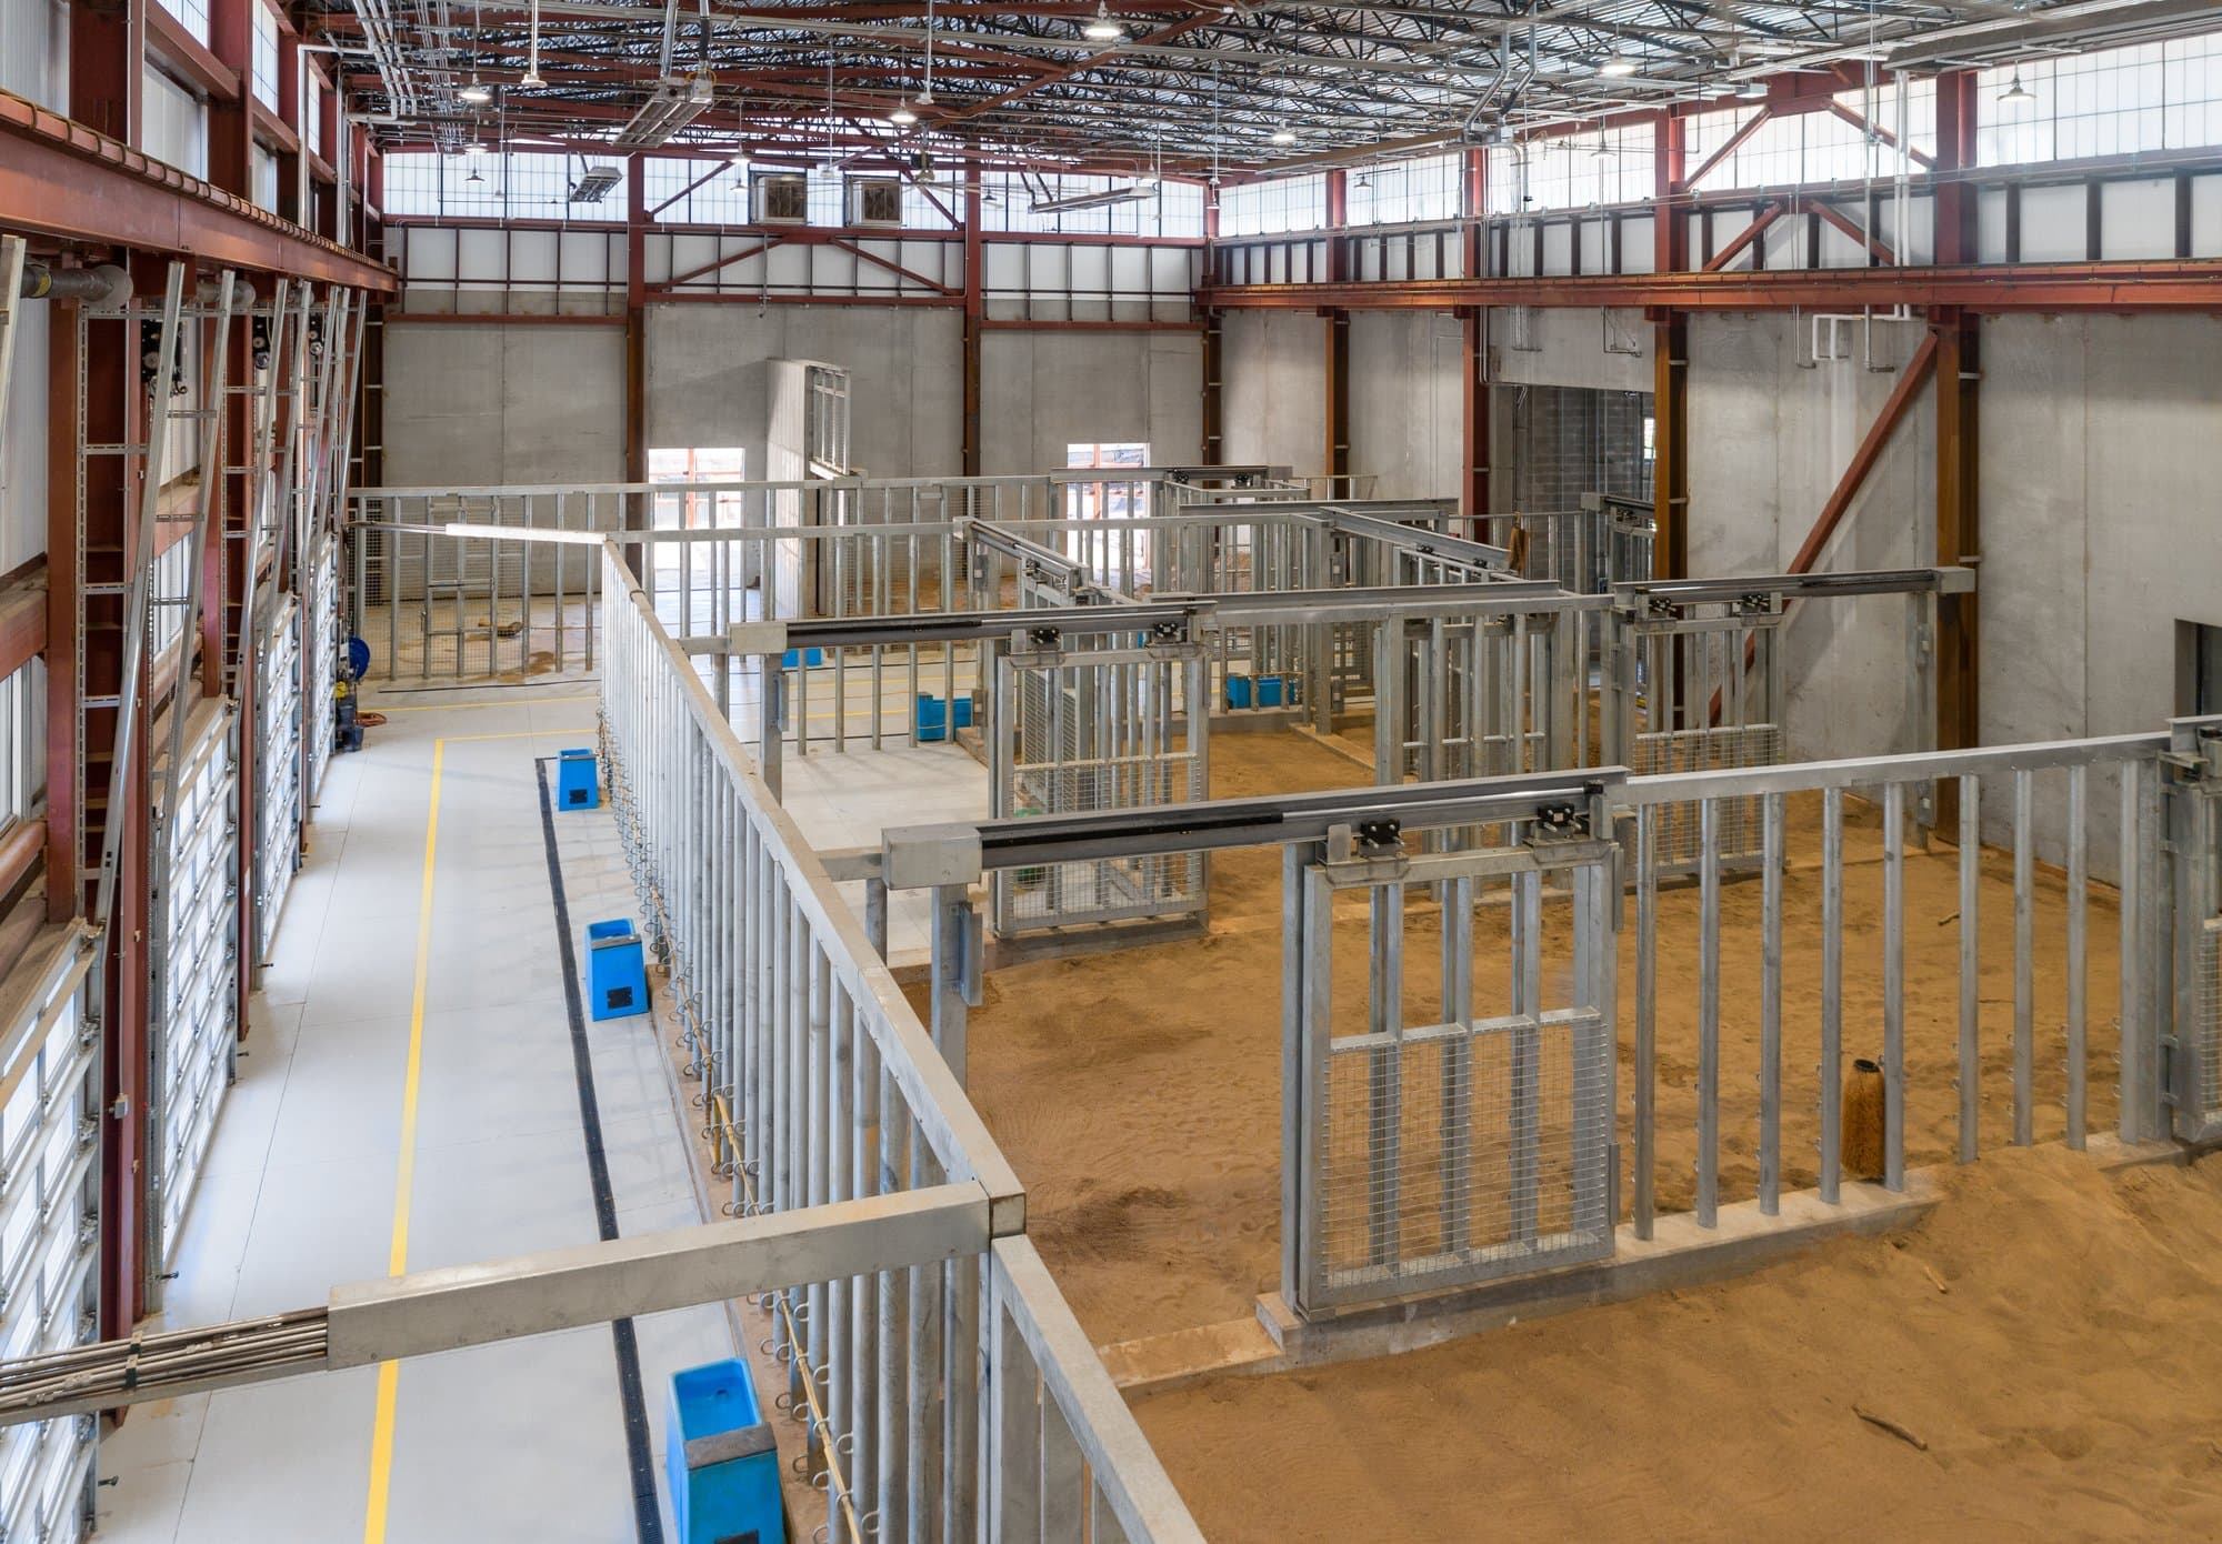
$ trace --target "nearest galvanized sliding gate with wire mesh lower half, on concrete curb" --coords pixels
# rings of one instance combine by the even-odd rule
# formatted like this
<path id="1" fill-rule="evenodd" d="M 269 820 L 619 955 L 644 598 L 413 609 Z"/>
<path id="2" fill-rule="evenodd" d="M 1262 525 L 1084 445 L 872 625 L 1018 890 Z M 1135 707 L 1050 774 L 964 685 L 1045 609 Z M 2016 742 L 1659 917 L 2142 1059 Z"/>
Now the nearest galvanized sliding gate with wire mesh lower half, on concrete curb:
<path id="1" fill-rule="evenodd" d="M 1300 1311 L 1613 1251 L 1613 844 L 1395 842 L 1284 849 L 1282 1291 Z M 1440 895 L 1440 969 L 1411 1022 L 1420 886 Z M 1342 969 L 1338 933 L 1364 942 Z"/>

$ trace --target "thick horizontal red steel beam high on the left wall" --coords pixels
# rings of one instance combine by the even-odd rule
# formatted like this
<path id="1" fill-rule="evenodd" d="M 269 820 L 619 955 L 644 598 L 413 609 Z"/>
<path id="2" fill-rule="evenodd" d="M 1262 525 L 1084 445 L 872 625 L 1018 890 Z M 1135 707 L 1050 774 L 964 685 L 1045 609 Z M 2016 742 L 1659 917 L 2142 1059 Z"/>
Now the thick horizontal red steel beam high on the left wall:
<path id="1" fill-rule="evenodd" d="M 393 269 L 362 253 L 4 91 L 0 229 L 193 253 L 207 269 L 298 273 L 373 293 L 398 287 Z"/>

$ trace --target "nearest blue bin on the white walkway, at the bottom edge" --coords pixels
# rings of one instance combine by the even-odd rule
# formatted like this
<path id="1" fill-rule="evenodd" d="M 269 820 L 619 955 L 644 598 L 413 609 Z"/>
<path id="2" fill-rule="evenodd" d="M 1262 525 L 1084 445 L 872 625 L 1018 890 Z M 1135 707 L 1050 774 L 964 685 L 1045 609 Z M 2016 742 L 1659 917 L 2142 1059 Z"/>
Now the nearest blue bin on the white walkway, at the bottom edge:
<path id="1" fill-rule="evenodd" d="M 747 1362 L 671 1375 L 664 1477 L 682 1544 L 787 1544 L 780 1448 Z"/>

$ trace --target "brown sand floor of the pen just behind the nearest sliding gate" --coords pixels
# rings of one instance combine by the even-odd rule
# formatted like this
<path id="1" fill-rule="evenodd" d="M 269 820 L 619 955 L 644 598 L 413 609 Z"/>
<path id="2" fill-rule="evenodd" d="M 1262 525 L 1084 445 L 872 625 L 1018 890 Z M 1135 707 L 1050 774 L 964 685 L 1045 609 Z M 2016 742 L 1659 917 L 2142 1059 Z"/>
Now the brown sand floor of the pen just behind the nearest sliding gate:
<path id="1" fill-rule="evenodd" d="M 1295 733 L 1213 740 L 1213 793 L 1353 786 L 1367 769 Z M 1784 886 L 1784 1184 L 1815 1177 L 1820 1022 L 1820 802 L 1793 800 Z M 1940 1162 L 1955 1142 L 1958 855 L 1906 862 L 1909 1157 Z M 2038 1137 L 2060 1135 L 2064 1091 L 2064 886 L 2038 889 Z M 1844 1055 L 1882 1040 L 1882 862 L 1875 811 L 1846 811 Z M 1547 975 L 1564 977 L 1562 924 L 1547 913 Z M 1280 853 L 1213 858 L 1211 933 L 1147 949 L 995 971 L 971 1015 L 971 1093 L 1029 1186 L 1031 1233 L 1098 1342 L 1244 1317 L 1280 1284 Z M 1722 1200 L 1755 1193 L 1760 884 L 1722 898 Z M 2113 1122 L 2113 893 L 2089 906 L 2089 1124 Z M 1698 1000 L 1693 886 L 1660 895 L 1662 1211 L 1693 1193 Z M 1622 1000 L 1633 997 L 1633 904 L 1622 933 Z M 1504 911 L 1475 918 L 1478 997 L 1502 993 Z M 1369 938 L 1362 909 L 1338 913 L 1338 1002 L 1360 1002 Z M 1407 1022 L 1433 1017 L 1440 980 L 1433 909 L 1407 922 Z M 1547 1006 L 1553 982 L 1547 982 Z M 1984 1149 L 2011 1113 L 2011 864 L 1984 853 Z M 1633 1100 L 1633 1024 L 1618 1029 L 1620 1133 Z M 1622 1157 L 1622 1202 L 1631 1195 Z"/>

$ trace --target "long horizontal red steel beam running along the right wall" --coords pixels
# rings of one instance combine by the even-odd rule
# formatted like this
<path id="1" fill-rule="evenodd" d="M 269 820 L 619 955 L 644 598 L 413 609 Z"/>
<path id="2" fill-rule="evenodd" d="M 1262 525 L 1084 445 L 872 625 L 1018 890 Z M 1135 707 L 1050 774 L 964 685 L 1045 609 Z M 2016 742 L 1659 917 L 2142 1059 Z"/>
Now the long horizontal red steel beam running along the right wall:
<path id="1" fill-rule="evenodd" d="M 1220 284 L 1200 302 L 1238 311 L 1455 311 L 1460 307 L 1960 307 L 2000 311 L 2222 311 L 2222 260 L 2022 262 L 1760 273 Z"/>

